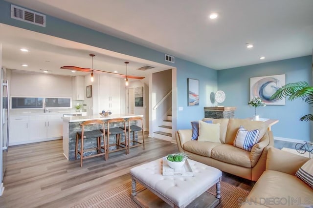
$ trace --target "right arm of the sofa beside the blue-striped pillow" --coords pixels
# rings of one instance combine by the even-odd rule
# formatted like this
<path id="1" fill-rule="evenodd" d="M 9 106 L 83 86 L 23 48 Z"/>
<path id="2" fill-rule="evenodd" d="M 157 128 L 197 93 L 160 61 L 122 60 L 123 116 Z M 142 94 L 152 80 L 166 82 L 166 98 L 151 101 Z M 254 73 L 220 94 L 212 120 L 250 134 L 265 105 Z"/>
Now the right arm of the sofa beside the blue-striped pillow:
<path id="1" fill-rule="evenodd" d="M 273 134 L 271 131 L 267 131 L 261 138 L 261 140 L 252 147 L 250 152 L 250 160 L 252 167 L 254 167 L 256 163 L 259 161 L 259 158 L 261 157 L 264 148 L 270 146 L 270 140 L 273 140 Z"/>

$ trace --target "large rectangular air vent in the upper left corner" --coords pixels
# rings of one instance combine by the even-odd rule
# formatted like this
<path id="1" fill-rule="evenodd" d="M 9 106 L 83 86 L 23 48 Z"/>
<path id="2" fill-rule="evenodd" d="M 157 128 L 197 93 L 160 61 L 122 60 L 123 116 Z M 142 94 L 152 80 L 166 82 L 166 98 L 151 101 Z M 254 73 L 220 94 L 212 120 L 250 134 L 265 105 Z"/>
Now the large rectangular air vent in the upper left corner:
<path id="1" fill-rule="evenodd" d="M 11 4 L 11 18 L 45 27 L 45 15 Z"/>

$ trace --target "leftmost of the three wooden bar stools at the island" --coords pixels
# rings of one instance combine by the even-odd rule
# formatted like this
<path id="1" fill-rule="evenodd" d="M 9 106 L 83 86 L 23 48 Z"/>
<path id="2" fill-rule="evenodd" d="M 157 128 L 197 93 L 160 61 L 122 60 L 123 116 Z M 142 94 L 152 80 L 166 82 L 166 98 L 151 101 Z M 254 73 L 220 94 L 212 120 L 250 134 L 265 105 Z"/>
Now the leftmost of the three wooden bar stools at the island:
<path id="1" fill-rule="evenodd" d="M 76 133 L 75 160 L 77 159 L 77 154 L 80 154 L 80 166 L 81 167 L 83 166 L 83 160 L 86 158 L 104 155 L 104 159 L 107 160 L 106 149 L 101 146 L 101 137 L 103 137 L 103 144 L 104 146 L 106 146 L 105 135 L 103 134 L 103 132 L 101 132 L 100 129 L 85 131 L 85 126 L 96 125 L 96 124 L 101 124 L 102 128 L 104 128 L 104 123 L 100 119 L 94 119 L 94 120 L 89 120 L 89 121 L 85 121 L 81 123 L 80 125 L 82 127 L 82 131 L 79 131 Z M 89 138 L 97 139 L 97 147 L 84 149 L 84 140 L 89 139 Z M 78 150 L 79 139 L 81 139 L 80 150 Z M 104 149 L 104 152 L 102 152 L 101 149 Z M 84 156 L 84 152 L 91 151 L 91 150 L 97 150 L 98 154 Z"/>

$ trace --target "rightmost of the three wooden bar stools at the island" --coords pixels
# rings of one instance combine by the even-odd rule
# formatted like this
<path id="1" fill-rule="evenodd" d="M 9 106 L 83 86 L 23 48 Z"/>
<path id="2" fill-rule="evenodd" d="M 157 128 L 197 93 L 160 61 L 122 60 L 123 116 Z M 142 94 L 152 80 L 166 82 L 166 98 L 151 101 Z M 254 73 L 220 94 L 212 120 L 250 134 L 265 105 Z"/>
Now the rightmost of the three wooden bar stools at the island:
<path id="1" fill-rule="evenodd" d="M 141 126 L 138 125 L 131 125 L 132 121 L 140 121 L 141 120 Z M 121 127 L 123 128 L 123 127 Z M 130 151 L 130 148 L 133 148 L 135 146 L 143 146 L 143 150 L 145 149 L 145 139 L 144 139 L 144 134 L 143 134 L 143 122 L 142 122 L 142 117 L 133 117 L 128 119 L 128 126 L 126 126 L 126 131 L 128 132 L 128 153 Z M 135 140 L 135 132 L 136 131 L 141 131 L 142 133 L 142 143 L 138 142 Z M 130 133 L 133 132 L 133 139 L 130 140 Z M 133 142 L 133 146 L 130 146 L 131 142 Z M 136 145 L 135 145 L 136 144 Z"/>

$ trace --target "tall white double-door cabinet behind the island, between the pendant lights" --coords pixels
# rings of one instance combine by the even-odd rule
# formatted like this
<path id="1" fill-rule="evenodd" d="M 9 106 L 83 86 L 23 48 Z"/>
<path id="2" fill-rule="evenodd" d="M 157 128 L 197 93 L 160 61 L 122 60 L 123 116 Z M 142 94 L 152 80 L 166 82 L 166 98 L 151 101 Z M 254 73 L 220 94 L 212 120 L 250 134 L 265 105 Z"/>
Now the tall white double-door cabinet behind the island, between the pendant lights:
<path id="1" fill-rule="evenodd" d="M 111 110 L 113 114 L 121 112 L 121 79 L 100 75 L 99 110 Z"/>

